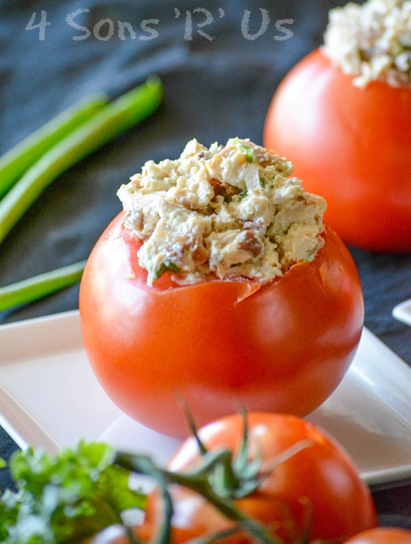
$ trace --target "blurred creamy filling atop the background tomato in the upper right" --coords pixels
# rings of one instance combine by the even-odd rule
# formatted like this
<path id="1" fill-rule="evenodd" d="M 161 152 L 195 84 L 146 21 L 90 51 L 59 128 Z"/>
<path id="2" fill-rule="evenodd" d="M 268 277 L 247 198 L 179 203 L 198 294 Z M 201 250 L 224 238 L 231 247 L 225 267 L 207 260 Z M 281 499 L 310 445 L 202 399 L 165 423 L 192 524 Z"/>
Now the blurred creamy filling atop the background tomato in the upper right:
<path id="1" fill-rule="evenodd" d="M 368 0 L 329 12 L 323 52 L 364 87 L 411 84 L 411 1 Z"/>

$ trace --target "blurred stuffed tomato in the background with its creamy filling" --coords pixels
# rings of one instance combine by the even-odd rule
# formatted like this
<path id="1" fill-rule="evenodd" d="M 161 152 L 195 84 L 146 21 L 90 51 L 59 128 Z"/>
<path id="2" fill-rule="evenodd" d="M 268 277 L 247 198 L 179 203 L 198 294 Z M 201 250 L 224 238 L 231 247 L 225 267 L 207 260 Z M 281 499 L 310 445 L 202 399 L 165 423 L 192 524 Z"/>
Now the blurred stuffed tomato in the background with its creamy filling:
<path id="1" fill-rule="evenodd" d="M 275 90 L 264 145 L 287 156 L 346 243 L 411 251 L 411 7 L 330 12 L 322 47 Z"/>

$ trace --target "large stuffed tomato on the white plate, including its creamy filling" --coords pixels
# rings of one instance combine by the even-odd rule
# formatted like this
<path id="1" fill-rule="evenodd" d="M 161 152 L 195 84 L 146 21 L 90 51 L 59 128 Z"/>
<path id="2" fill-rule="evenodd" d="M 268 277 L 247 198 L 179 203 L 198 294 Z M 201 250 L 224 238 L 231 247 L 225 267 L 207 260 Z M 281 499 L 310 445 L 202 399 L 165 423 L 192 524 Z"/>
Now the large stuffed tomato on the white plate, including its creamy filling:
<path id="1" fill-rule="evenodd" d="M 79 309 L 101 386 L 140 423 L 185 436 L 182 399 L 200 425 L 239 403 L 306 415 L 345 375 L 360 280 L 290 168 L 249 140 L 193 140 L 119 190 Z"/>

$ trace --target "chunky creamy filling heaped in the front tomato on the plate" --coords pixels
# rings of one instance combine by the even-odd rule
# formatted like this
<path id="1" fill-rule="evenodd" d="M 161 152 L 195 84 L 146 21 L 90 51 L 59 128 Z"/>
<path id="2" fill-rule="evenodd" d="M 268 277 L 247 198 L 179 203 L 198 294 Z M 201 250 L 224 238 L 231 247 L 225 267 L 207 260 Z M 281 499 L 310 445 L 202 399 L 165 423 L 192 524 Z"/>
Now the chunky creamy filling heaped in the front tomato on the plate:
<path id="1" fill-rule="evenodd" d="M 193 139 L 177 160 L 149 160 L 119 188 L 125 227 L 143 242 L 153 284 L 245 277 L 270 282 L 323 246 L 325 200 L 306 193 L 292 164 L 250 140 L 207 148 Z"/>

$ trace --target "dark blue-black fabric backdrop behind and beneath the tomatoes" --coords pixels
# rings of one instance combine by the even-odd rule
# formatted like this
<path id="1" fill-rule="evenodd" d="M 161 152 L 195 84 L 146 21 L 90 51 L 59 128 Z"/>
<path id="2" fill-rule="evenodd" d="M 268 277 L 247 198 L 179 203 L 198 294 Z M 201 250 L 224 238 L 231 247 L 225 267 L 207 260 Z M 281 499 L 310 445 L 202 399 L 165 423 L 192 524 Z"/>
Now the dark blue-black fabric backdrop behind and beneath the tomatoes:
<path id="1" fill-rule="evenodd" d="M 149 120 L 45 190 L 1 244 L 0 285 L 86 258 L 121 208 L 116 189 L 145 160 L 175 158 L 193 137 L 206 145 L 231 136 L 261 143 L 273 91 L 286 71 L 321 43 L 327 12 L 340 4 L 1 0 L 0 153 L 88 93 L 119 95 L 157 73 L 165 97 Z M 247 10 L 248 27 L 242 25 Z M 270 18 L 266 29 L 262 10 Z M 43 16 L 43 30 L 29 29 L 33 13 L 32 26 Z M 151 31 L 144 29 L 147 20 Z M 281 20 L 286 22 L 276 27 Z M 127 30 L 121 39 L 117 21 L 132 25 L 134 39 Z M 411 255 L 350 249 L 364 288 L 366 325 L 411 364 L 411 328 L 390 314 L 411 296 Z M 0 323 L 75 309 L 77 297 L 74 286 L 1 312 Z M 0 430 L 0 456 L 8 458 L 14 449 Z M 5 469 L 0 486 L 10 486 Z M 375 491 L 374 496 L 381 523 L 411 528 L 411 485 Z"/>

